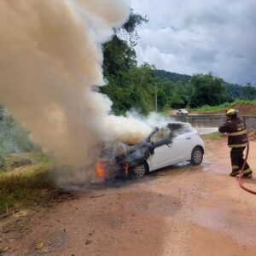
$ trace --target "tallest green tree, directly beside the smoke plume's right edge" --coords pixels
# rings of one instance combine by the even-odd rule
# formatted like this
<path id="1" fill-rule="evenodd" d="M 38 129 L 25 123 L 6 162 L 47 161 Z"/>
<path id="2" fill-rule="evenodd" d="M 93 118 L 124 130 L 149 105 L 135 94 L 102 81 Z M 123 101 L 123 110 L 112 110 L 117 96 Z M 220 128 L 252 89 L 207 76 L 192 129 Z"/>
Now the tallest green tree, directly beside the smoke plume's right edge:
<path id="1" fill-rule="evenodd" d="M 150 80 L 151 67 L 137 67 L 136 52 L 133 48 L 138 35 L 136 27 L 148 20 L 131 9 L 129 20 L 115 31 L 113 39 L 103 46 L 103 73 L 108 86 L 100 90 L 113 102 L 113 112 L 123 114 L 131 108 L 139 108 L 147 113 L 150 90 L 144 87 Z M 126 39 L 125 39 L 126 38 Z"/>

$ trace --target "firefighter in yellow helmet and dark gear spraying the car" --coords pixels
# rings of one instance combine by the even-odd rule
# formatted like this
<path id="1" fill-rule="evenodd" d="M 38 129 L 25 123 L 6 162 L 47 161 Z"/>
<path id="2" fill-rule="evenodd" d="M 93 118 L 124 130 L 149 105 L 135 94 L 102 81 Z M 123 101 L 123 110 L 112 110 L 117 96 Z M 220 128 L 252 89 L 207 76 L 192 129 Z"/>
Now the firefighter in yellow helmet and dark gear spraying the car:
<path id="1" fill-rule="evenodd" d="M 243 151 L 247 147 L 248 138 L 246 125 L 238 117 L 237 111 L 233 108 L 226 110 L 226 115 L 228 117 L 224 125 L 218 128 L 219 132 L 228 134 L 228 146 L 231 148 L 230 159 L 232 165 L 231 177 L 236 177 L 239 175 L 241 167 L 244 163 Z M 253 177 L 253 172 L 246 163 L 242 177 Z"/>

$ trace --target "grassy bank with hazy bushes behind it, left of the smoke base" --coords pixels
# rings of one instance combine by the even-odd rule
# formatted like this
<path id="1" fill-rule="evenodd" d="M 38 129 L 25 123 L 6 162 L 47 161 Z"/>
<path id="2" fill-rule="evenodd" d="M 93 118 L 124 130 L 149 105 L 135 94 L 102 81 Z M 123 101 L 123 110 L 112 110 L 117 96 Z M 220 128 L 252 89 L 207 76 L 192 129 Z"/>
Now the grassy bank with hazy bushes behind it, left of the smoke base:
<path id="1" fill-rule="evenodd" d="M 0 216 L 3 216 L 49 199 L 49 171 L 55 161 L 31 142 L 29 133 L 3 108 L 1 113 Z"/>

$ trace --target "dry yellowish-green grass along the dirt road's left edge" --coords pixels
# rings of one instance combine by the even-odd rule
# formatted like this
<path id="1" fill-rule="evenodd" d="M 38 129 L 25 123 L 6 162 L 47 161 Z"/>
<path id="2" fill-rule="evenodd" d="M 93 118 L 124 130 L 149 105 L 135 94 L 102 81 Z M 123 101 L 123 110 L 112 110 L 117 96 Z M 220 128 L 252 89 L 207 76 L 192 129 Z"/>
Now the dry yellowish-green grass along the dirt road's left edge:
<path id="1" fill-rule="evenodd" d="M 10 159 L 17 160 L 19 157 L 12 155 Z M 14 164 L 14 161 L 9 162 L 10 165 Z M 49 171 L 55 166 L 54 160 L 43 153 L 31 153 L 26 154 L 24 164 L 9 172 L 0 172 L 0 216 L 49 200 Z"/>

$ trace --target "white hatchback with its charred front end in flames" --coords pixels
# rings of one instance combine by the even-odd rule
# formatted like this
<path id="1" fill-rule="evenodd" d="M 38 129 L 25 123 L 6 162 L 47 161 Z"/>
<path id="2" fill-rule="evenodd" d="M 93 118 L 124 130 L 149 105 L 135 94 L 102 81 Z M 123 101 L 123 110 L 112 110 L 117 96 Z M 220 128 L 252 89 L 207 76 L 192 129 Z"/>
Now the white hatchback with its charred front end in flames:
<path id="1" fill-rule="evenodd" d="M 167 123 L 155 127 L 142 143 L 116 146 L 113 157 L 97 162 L 96 172 L 106 178 L 143 177 L 148 172 L 183 161 L 196 166 L 203 160 L 204 148 L 198 131 L 190 124 Z"/>

